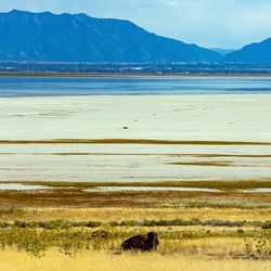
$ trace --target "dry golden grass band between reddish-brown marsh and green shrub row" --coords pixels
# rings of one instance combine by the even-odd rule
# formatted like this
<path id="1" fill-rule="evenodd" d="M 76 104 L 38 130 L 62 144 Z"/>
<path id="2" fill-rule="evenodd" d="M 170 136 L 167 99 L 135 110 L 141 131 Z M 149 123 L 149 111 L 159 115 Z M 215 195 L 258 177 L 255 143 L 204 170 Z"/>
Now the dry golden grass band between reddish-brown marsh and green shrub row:
<path id="1" fill-rule="evenodd" d="M 271 209 L 237 208 L 22 208 L 18 211 L 0 212 L 0 221 L 119 221 L 119 220 L 229 220 L 267 221 Z"/>

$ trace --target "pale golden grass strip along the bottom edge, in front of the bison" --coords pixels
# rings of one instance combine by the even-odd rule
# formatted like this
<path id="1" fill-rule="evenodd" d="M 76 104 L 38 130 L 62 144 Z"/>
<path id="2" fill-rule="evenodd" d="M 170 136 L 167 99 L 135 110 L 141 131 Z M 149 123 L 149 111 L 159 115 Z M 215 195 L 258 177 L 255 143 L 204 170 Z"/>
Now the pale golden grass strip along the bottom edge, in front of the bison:
<path id="1" fill-rule="evenodd" d="M 51 250 L 42 258 L 25 253 L 5 250 L 0 254 L 1 271 L 268 271 L 270 261 L 210 260 L 206 257 L 163 256 L 151 254 L 113 255 L 106 251 L 89 251 L 75 258 Z"/>

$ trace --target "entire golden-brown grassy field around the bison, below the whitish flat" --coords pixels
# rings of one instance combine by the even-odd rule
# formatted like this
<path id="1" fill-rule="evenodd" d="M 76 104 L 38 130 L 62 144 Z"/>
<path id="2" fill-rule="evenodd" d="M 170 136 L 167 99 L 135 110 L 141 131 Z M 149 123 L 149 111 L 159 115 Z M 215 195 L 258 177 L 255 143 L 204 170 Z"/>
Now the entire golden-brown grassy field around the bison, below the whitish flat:
<path id="1" fill-rule="evenodd" d="M 0 192 L 0 270 L 271 268 L 270 193 L 238 191 L 269 189 L 269 180 L 182 184 L 220 190 L 211 193 L 89 192 L 94 183 L 33 184 L 51 189 Z M 178 183 L 152 185 L 167 188 Z M 95 236 L 96 231 L 108 235 Z M 124 240 L 149 231 L 158 234 L 157 250 L 120 250 Z"/>

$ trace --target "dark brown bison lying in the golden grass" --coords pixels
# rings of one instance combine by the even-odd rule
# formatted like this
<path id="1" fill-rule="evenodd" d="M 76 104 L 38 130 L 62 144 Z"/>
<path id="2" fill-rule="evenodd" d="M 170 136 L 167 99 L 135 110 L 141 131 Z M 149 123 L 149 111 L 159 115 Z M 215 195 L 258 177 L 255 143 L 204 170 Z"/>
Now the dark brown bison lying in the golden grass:
<path id="1" fill-rule="evenodd" d="M 140 234 L 130 237 L 122 242 L 121 248 L 124 250 L 142 250 L 150 251 L 155 249 L 159 245 L 157 234 L 155 232 L 149 232 L 147 234 Z"/>

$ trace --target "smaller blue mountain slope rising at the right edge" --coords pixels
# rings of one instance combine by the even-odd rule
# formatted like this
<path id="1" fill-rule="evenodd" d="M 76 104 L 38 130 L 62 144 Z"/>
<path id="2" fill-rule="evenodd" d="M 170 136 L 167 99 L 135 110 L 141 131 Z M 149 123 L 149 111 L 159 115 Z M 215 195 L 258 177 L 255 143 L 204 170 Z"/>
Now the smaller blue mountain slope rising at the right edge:
<path id="1" fill-rule="evenodd" d="M 271 64 L 271 38 L 232 52 L 225 55 L 223 61 L 247 64 Z"/>

